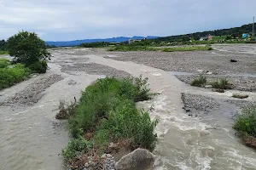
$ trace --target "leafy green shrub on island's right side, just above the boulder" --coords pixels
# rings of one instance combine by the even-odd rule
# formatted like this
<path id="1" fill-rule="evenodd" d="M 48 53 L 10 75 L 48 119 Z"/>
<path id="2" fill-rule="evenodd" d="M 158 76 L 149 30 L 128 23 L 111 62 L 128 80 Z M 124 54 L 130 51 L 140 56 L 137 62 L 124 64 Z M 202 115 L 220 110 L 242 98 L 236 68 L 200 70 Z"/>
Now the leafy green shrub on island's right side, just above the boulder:
<path id="1" fill-rule="evenodd" d="M 148 112 L 138 111 L 131 100 L 123 100 L 115 111 L 111 111 L 102 128 L 113 134 L 113 139 L 130 139 L 133 148 L 154 150 L 156 135 L 154 127 L 158 121 L 151 121 Z"/>

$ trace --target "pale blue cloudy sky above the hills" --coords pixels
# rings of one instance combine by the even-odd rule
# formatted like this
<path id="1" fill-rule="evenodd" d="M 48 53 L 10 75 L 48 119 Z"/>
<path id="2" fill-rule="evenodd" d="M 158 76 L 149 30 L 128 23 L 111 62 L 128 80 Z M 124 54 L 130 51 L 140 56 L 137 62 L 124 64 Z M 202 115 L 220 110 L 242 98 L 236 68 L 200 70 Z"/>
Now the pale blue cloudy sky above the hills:
<path id="1" fill-rule="evenodd" d="M 0 0 L 0 39 L 172 36 L 253 22 L 255 0 Z"/>

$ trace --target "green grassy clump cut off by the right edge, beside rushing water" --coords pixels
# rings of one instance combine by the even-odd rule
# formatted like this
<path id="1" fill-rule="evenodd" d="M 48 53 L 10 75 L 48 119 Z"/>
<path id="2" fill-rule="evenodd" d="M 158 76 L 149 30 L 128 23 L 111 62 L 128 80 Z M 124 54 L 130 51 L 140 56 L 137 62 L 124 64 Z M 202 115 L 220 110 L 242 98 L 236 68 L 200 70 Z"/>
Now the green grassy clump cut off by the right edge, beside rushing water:
<path id="1" fill-rule="evenodd" d="M 234 128 L 244 144 L 256 147 L 256 106 L 244 109 L 237 117 Z"/>

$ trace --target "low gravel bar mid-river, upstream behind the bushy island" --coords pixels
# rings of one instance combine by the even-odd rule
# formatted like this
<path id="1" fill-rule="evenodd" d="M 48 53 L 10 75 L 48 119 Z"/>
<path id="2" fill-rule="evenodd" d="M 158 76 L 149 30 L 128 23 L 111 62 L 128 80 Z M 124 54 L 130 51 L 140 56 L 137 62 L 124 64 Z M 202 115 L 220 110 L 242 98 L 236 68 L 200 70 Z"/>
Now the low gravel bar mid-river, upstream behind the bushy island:
<path id="1" fill-rule="evenodd" d="M 131 77 L 131 75 L 125 71 L 119 71 L 108 65 L 100 65 L 96 63 L 74 63 L 73 65 L 61 65 L 61 71 L 85 71 L 91 75 L 104 75 L 106 77 Z"/>

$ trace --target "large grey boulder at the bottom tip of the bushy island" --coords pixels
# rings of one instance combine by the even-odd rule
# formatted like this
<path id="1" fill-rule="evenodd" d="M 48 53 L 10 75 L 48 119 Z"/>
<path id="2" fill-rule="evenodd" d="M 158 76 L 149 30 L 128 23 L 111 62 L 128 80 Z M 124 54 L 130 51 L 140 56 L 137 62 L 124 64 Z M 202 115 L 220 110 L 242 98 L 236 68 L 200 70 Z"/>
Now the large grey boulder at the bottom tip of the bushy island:
<path id="1" fill-rule="evenodd" d="M 116 170 L 150 170 L 154 165 L 154 155 L 148 150 L 137 149 L 123 156 L 116 164 Z"/>

